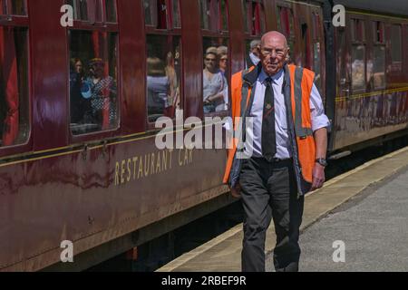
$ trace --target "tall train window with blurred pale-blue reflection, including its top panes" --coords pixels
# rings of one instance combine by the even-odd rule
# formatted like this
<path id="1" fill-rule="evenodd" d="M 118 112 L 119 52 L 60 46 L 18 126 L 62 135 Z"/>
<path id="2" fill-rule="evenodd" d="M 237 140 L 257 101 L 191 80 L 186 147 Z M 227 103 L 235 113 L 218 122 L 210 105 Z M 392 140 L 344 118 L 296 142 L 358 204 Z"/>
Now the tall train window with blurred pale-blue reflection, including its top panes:
<path id="1" fill-rule="evenodd" d="M 180 2 L 144 0 L 144 3 L 145 12 L 146 4 L 149 4 L 150 10 L 146 17 L 153 21 L 146 22 L 146 100 L 148 121 L 151 123 L 163 116 L 173 118 L 181 109 Z M 156 16 L 153 12 L 157 12 Z M 151 25 L 154 19 L 157 19 L 156 25 Z M 171 29 L 163 34 L 163 29 L 168 27 Z"/>

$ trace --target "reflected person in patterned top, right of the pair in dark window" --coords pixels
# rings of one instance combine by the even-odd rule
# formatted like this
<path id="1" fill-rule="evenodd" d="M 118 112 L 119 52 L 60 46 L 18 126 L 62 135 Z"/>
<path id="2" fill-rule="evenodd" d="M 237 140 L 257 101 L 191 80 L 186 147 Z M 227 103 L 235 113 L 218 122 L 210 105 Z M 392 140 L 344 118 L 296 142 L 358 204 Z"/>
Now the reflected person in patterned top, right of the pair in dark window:
<path id="1" fill-rule="evenodd" d="M 112 76 L 105 73 L 102 59 L 91 60 L 89 77 L 83 82 L 83 98 L 90 99 L 92 115 L 85 117 L 86 121 L 103 125 L 103 115 L 109 110 L 109 124 L 116 121 L 116 84 Z"/>

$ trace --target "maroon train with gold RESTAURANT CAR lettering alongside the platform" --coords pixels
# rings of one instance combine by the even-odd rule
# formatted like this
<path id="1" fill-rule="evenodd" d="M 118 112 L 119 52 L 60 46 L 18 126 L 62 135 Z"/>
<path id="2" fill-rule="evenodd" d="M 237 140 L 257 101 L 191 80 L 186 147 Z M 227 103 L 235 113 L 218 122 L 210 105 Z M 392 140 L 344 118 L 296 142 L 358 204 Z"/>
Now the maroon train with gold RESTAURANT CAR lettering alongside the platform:
<path id="1" fill-rule="evenodd" d="M 0 0 L 0 269 L 84 269 L 230 203 L 226 150 L 158 150 L 154 121 L 227 116 L 230 75 L 269 30 L 316 72 L 335 157 L 406 134 L 400 1 Z"/>

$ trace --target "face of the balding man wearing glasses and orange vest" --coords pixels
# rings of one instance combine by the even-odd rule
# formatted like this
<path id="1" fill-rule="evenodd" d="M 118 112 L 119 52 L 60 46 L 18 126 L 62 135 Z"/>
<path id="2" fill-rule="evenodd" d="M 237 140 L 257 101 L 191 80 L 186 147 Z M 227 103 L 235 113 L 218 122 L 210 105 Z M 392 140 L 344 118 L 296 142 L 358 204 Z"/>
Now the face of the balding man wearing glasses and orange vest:
<path id="1" fill-rule="evenodd" d="M 268 36 L 261 44 L 260 59 L 265 73 L 272 76 L 285 65 L 289 49 L 285 38 L 278 35 Z"/>

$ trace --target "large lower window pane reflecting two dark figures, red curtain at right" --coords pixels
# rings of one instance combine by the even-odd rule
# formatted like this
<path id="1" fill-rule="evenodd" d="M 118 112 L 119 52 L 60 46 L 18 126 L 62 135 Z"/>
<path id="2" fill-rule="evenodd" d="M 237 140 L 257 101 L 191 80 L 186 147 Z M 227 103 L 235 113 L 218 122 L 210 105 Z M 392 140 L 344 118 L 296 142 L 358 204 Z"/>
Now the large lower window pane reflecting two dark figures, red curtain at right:
<path id="1" fill-rule="evenodd" d="M 73 135 L 116 128 L 117 34 L 71 30 L 69 39 Z"/>

